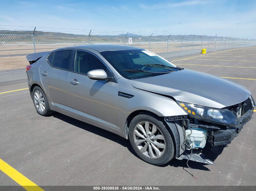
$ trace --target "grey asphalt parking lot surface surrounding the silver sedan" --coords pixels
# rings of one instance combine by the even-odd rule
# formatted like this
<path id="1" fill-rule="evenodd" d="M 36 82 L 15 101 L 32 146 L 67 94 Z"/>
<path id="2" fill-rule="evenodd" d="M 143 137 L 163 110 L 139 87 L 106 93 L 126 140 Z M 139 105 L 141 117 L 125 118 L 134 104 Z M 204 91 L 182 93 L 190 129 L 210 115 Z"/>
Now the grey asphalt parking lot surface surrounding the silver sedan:
<path id="1" fill-rule="evenodd" d="M 170 60 L 241 84 L 256 97 L 255 46 Z M 189 162 L 195 179 L 186 160 L 153 166 L 137 158 L 118 135 L 60 113 L 38 115 L 23 88 L 26 82 L 0 86 L 0 158 L 39 186 L 256 185 L 256 116 L 220 154 L 205 153 L 215 166 Z M 0 170 L 3 185 L 18 183 Z"/>

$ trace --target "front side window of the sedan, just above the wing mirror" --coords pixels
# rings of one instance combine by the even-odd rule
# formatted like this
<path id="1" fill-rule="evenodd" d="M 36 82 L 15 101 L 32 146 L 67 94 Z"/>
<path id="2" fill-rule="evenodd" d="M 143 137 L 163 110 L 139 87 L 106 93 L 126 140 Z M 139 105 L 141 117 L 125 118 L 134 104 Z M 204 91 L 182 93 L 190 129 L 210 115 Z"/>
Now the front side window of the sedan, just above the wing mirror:
<path id="1" fill-rule="evenodd" d="M 93 54 L 76 51 L 75 72 L 87 75 L 87 72 L 96 69 L 103 69 L 109 75 L 108 68 Z"/>

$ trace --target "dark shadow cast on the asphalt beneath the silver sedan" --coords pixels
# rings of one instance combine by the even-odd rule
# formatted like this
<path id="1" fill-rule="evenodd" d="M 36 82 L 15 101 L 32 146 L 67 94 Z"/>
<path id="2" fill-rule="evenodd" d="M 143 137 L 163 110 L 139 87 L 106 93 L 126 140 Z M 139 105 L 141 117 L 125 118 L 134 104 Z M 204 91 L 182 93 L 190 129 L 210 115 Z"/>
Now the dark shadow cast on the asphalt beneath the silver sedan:
<path id="1" fill-rule="evenodd" d="M 88 132 L 91 132 L 91 133 L 95 133 L 97 135 L 100 135 L 101 137 L 104 137 L 104 138 L 107 138 L 107 139 L 109 139 L 113 142 L 116 142 L 116 143 L 122 145 L 123 147 L 126 147 L 133 155 L 137 156 L 136 153 L 131 148 L 130 142 L 128 140 L 126 140 L 125 138 L 119 136 L 119 135 L 116 135 L 116 134 L 114 134 L 112 132 L 109 132 L 105 129 L 101 129 L 99 127 L 90 125 L 88 123 L 79 121 L 77 119 L 68 117 L 68 116 L 63 115 L 63 114 L 58 113 L 58 112 L 53 113 L 52 116 L 57 118 L 57 119 L 60 119 L 62 121 L 65 121 L 66 123 L 69 123 L 73 126 L 84 129 L 84 130 L 86 130 Z M 211 161 L 214 161 L 218 157 L 218 155 L 221 154 L 221 152 L 222 152 L 222 150 L 219 153 L 213 153 L 213 152 L 210 152 L 207 149 L 202 151 L 202 153 L 205 155 L 205 157 L 210 159 Z M 203 163 L 199 163 L 199 162 L 189 161 L 188 165 L 191 169 L 211 171 L 207 168 L 207 166 L 210 165 L 210 164 L 203 164 Z M 178 159 L 174 158 L 173 160 L 171 160 L 167 164 L 161 165 L 160 167 L 166 167 L 166 166 L 183 167 L 183 169 L 189 173 L 188 166 L 187 166 L 187 160 L 185 160 L 185 159 L 178 160 Z"/>

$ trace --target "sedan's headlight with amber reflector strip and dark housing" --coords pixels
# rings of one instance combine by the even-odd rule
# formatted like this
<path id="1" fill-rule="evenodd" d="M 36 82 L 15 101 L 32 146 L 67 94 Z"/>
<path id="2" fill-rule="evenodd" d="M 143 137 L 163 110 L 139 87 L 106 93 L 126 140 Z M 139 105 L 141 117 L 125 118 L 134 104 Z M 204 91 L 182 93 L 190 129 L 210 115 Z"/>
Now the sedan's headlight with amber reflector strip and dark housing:
<path id="1" fill-rule="evenodd" d="M 184 103 L 177 101 L 181 108 L 191 117 L 201 119 L 204 121 L 219 123 L 219 124 L 233 124 L 239 125 L 237 117 L 229 110 L 214 109 L 204 106 L 199 106 L 191 103 Z"/>

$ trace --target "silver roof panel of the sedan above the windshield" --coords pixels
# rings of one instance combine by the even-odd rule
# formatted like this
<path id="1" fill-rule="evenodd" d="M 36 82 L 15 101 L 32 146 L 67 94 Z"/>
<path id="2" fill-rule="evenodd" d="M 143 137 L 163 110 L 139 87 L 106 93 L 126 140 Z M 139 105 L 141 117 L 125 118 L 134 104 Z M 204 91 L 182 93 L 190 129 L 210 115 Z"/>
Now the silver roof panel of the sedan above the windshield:
<path id="1" fill-rule="evenodd" d="M 94 49 L 98 52 L 108 51 L 108 50 L 133 50 L 133 49 L 141 49 L 134 46 L 125 46 L 125 45 L 113 45 L 113 44 L 88 44 L 88 45 L 78 45 L 78 46 L 69 46 L 64 47 L 60 49 L 82 49 L 82 50 L 88 50 L 88 49 Z M 58 49 L 58 50 L 60 50 Z"/>

